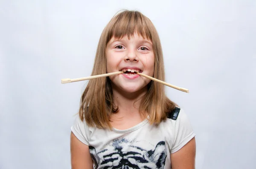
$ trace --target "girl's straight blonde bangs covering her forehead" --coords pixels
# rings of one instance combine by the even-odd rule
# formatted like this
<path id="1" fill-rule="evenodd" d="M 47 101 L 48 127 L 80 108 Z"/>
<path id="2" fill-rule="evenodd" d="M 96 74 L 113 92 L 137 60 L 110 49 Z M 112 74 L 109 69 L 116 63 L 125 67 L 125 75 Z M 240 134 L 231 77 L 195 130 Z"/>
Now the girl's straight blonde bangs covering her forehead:
<path id="1" fill-rule="evenodd" d="M 128 39 L 137 33 L 145 39 L 152 41 L 151 30 L 153 24 L 151 21 L 138 11 L 123 11 L 113 17 L 109 26 L 107 43 L 112 37 L 120 39 L 128 36 Z"/>

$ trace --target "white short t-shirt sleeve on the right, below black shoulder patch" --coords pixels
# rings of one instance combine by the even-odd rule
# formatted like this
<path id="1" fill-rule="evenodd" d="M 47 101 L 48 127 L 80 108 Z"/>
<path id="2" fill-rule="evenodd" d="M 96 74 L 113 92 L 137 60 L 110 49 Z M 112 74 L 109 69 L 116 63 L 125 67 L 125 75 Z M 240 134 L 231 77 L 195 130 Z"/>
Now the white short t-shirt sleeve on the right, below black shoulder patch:
<path id="1" fill-rule="evenodd" d="M 175 121 L 175 133 L 174 141 L 170 153 L 175 153 L 183 146 L 185 146 L 192 138 L 195 137 L 195 133 L 189 122 L 189 118 L 183 109 L 180 109 L 180 113 Z"/>

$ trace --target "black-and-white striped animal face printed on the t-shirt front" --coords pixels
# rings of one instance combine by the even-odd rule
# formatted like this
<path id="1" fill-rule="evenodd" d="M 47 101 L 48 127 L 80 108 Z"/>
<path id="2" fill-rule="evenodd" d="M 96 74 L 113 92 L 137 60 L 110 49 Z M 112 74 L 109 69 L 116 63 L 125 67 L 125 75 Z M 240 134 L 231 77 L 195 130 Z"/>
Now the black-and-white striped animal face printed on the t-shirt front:
<path id="1" fill-rule="evenodd" d="M 136 146 L 138 143 L 140 146 Z M 167 157 L 165 142 L 160 141 L 149 150 L 141 146 L 150 147 L 152 144 L 119 138 L 99 152 L 89 146 L 94 169 L 163 169 Z"/>

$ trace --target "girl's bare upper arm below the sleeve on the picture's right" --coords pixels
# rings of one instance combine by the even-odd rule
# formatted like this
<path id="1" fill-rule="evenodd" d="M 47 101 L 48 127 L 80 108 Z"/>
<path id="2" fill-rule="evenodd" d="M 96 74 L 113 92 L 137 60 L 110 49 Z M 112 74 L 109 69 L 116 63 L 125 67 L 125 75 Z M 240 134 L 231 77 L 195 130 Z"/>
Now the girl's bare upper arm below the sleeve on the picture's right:
<path id="1" fill-rule="evenodd" d="M 172 169 L 195 169 L 195 137 L 171 154 Z"/>

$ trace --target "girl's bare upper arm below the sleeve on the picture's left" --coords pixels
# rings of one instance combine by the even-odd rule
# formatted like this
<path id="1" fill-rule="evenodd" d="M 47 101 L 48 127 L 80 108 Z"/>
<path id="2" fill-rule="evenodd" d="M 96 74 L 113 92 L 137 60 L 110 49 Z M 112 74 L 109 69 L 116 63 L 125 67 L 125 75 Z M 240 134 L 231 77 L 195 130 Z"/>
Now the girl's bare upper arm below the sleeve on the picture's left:
<path id="1" fill-rule="evenodd" d="M 79 141 L 73 132 L 70 135 L 70 151 L 72 169 L 93 169 L 89 146 Z"/>

